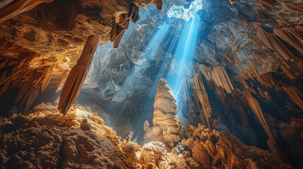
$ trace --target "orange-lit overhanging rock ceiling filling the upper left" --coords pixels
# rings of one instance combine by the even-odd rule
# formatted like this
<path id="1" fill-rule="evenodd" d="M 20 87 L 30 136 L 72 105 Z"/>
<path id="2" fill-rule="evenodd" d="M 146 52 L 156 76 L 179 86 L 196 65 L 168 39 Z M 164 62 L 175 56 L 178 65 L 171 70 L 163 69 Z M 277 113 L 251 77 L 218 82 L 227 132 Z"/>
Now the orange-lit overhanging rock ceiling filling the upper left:
<path id="1" fill-rule="evenodd" d="M 66 71 L 76 65 L 90 35 L 101 36 L 102 43 L 111 40 L 117 48 L 130 20 L 136 23 L 139 19 L 139 7 L 155 4 L 162 8 L 162 1 L 42 2 L 4 1 L 0 8 L 0 68 L 4 73 L 0 95 L 30 86 L 35 94 L 24 98 L 23 102 L 28 102 L 21 108 L 25 113 L 50 80 L 61 79 L 63 82 L 52 84 L 61 88 Z M 26 92 L 23 89 L 22 93 Z"/>

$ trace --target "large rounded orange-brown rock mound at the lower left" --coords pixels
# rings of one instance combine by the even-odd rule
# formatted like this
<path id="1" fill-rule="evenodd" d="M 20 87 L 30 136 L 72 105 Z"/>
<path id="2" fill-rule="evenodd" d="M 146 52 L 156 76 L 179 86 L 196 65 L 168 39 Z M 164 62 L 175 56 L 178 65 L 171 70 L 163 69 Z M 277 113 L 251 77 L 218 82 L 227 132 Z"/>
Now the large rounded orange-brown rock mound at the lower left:
<path id="1" fill-rule="evenodd" d="M 1 119 L 1 168 L 136 168 L 97 114 L 73 107 L 62 115 L 50 103 L 35 109 Z"/>

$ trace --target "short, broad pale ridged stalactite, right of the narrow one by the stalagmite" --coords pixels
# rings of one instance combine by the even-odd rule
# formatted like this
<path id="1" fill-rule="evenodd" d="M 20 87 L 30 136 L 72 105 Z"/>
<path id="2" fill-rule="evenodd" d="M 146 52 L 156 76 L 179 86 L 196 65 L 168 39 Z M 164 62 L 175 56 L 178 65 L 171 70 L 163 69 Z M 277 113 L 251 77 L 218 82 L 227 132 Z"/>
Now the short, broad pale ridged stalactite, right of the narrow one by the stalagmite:
<path id="1" fill-rule="evenodd" d="M 211 77 L 217 87 L 223 87 L 227 93 L 232 93 L 234 87 L 230 82 L 230 77 L 227 74 L 226 68 L 223 65 L 215 66 L 212 70 Z"/>

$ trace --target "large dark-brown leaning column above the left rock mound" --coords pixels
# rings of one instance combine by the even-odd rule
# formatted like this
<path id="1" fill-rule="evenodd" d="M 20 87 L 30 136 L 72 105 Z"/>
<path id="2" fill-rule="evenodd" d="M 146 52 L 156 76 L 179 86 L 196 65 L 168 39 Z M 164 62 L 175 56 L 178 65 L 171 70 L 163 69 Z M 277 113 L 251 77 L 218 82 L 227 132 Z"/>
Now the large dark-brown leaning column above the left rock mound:
<path id="1" fill-rule="evenodd" d="M 77 64 L 71 69 L 71 73 L 69 73 L 69 77 L 67 77 L 66 83 L 62 89 L 58 106 L 61 113 L 66 114 L 71 105 L 75 103 L 85 77 L 88 75 L 90 65 L 93 62 L 93 57 L 99 43 L 100 37 L 94 35 L 88 37 L 82 54 L 78 59 Z"/>

